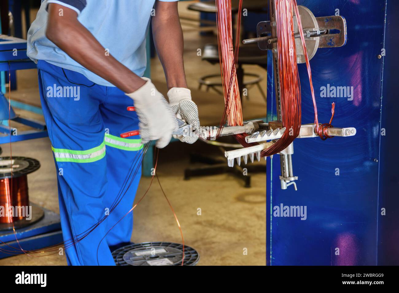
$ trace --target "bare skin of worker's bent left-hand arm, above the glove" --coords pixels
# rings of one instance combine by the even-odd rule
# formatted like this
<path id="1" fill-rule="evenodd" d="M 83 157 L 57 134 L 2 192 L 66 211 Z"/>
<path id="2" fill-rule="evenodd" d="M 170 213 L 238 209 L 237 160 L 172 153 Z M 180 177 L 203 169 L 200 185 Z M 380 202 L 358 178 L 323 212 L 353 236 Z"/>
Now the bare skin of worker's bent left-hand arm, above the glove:
<path id="1" fill-rule="evenodd" d="M 124 92 L 134 92 L 146 81 L 112 57 L 78 20 L 77 12 L 65 6 L 50 3 L 46 36 L 57 47 L 89 71 L 109 81 Z M 63 9 L 62 16 L 59 9 Z"/>

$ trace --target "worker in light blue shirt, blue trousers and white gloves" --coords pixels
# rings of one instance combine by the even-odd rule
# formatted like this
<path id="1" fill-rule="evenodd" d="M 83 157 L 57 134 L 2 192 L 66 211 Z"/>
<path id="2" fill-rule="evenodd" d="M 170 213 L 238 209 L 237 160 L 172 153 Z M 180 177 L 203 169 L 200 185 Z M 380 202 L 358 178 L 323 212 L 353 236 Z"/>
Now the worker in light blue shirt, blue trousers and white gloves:
<path id="1" fill-rule="evenodd" d="M 184 73 L 176 1 L 42 0 L 28 31 L 27 55 L 38 65 L 58 174 L 64 242 L 85 235 L 109 214 L 65 250 L 69 265 L 115 265 L 111 250 L 130 243 L 133 216 L 125 214 L 133 205 L 141 165 L 114 210 L 112 205 L 137 152 L 150 141 L 159 148 L 168 145 L 176 115 L 194 130 L 199 127 Z M 150 21 L 169 102 L 142 77 Z M 130 130 L 140 136 L 120 138 Z M 194 143 L 196 138 L 180 140 Z"/>

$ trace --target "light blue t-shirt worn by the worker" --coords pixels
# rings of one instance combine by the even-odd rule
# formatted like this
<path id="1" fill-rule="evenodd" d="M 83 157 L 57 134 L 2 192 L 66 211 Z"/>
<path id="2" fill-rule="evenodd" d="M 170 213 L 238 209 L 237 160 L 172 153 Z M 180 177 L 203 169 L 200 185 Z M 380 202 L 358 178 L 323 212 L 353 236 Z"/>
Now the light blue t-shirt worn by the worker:
<path id="1" fill-rule="evenodd" d="M 173 2 L 177 0 L 161 0 Z M 45 36 L 47 5 L 57 3 L 75 10 L 77 19 L 99 43 L 128 69 L 142 76 L 146 69 L 146 36 L 155 0 L 42 0 L 28 31 L 28 57 L 82 73 L 93 83 L 113 86 L 87 70 Z M 77 44 L 79 45 L 79 44 Z M 105 53 L 105 52 L 104 52 Z"/>

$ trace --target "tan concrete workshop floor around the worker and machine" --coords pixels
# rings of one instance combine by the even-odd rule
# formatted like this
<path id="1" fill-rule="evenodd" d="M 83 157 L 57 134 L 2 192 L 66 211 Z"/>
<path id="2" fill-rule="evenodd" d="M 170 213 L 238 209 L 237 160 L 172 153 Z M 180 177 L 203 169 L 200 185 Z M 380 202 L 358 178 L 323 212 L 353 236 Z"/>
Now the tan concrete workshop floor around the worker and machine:
<path id="1" fill-rule="evenodd" d="M 179 5 L 181 14 L 188 13 L 188 16 L 196 17 L 193 12 L 187 12 L 185 6 Z M 183 28 L 188 85 L 190 88 L 197 88 L 201 75 L 219 72 L 219 65 L 203 62 L 196 55 L 197 48 L 205 43 L 214 43 L 216 39 L 214 36 L 199 37 L 198 32 L 189 26 L 184 25 Z M 266 89 L 266 73 L 263 69 L 256 66 L 246 66 L 244 69 L 262 75 L 262 87 Z M 151 61 L 151 71 L 154 82 L 165 83 L 162 65 L 157 58 Z M 211 94 L 203 92 L 203 96 Z M 221 96 L 213 96 L 223 100 Z M 264 117 L 266 105 L 258 90 L 250 89 L 249 97 L 249 100 L 243 101 L 244 117 Z M 12 98 L 40 104 L 35 70 L 18 72 L 18 90 L 12 92 Z M 209 123 L 201 125 L 215 125 L 211 123 L 220 120 L 221 109 L 213 111 L 209 104 L 207 107 L 201 104 L 200 99 L 197 103 L 201 122 L 207 120 Z M 38 115 L 22 110 L 16 112 L 41 119 Z M 3 144 L 1 147 L 2 155 L 9 155 L 10 146 Z M 229 174 L 184 181 L 183 172 L 189 166 L 189 153 L 194 151 L 218 153 L 216 147 L 201 142 L 193 146 L 174 142 L 160 151 L 158 175 L 178 216 L 186 245 L 192 246 L 200 254 L 198 265 L 265 265 L 266 174 L 249 174 L 252 175 L 252 187 L 249 189 L 243 187 L 243 181 Z M 15 156 L 34 157 L 40 161 L 41 168 L 28 175 L 30 199 L 44 208 L 58 212 L 56 172 L 49 139 L 13 143 L 12 153 Z M 265 164 L 264 161 L 262 163 Z M 149 183 L 150 178 L 141 179 L 136 200 L 144 194 Z M 198 208 L 201 208 L 201 215 L 197 215 Z M 156 182 L 134 210 L 132 241 L 182 241 L 172 211 Z M 247 255 L 243 255 L 244 248 L 247 248 Z M 0 265 L 65 264 L 65 256 L 58 255 L 41 258 L 20 255 L 0 260 Z"/>

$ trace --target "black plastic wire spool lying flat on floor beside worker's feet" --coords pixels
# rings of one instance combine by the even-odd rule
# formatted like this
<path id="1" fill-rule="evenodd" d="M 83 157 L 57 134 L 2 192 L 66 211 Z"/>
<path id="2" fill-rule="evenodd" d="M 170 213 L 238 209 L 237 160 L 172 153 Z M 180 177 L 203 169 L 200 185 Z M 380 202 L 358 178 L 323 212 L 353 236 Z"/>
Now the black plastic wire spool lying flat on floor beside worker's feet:
<path id="1" fill-rule="evenodd" d="M 182 265 L 183 245 L 171 242 L 143 242 L 118 248 L 112 253 L 116 265 Z M 184 246 L 183 265 L 196 265 L 199 254 Z"/>

